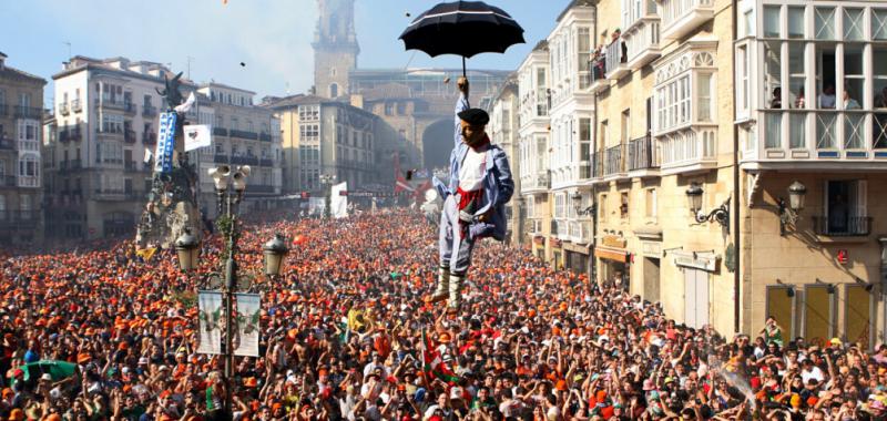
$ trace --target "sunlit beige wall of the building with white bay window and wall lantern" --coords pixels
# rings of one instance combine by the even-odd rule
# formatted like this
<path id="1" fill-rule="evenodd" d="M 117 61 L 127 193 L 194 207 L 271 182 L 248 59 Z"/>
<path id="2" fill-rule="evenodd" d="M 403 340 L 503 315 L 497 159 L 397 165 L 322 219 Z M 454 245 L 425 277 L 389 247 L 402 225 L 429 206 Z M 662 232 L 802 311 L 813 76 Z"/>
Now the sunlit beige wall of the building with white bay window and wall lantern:
<path id="1" fill-rule="evenodd" d="M 619 0 L 598 3 L 598 45 L 610 43 L 614 30 L 624 28 L 622 7 Z M 608 165 L 604 164 L 605 148 L 620 144 L 625 148 L 622 150 L 622 170 L 605 172 L 600 168 L 592 182 L 598 199 L 598 280 L 613 281 L 616 271 L 624 271 L 632 294 L 661 301 L 665 314 L 679 322 L 711 324 L 722 333 L 734 331 L 734 276 L 724 265 L 733 237 L 717 223 L 696 223 L 689 208 L 686 191 L 692 183 L 700 183 L 704 189 L 702 210 L 705 214 L 734 193 L 730 7 L 730 1 L 714 1 L 711 20 L 680 39 L 661 39 L 659 58 L 629 70 L 619 80 L 611 80 L 609 89 L 599 92 L 595 124 L 599 165 Z M 663 167 L 664 136 L 655 136 L 657 73 L 673 63 L 677 65 L 684 57 L 693 60 L 699 57 L 696 52 L 703 51 L 711 52 L 714 59 L 705 63 L 706 70 L 703 70 L 713 73 L 714 79 L 712 123 L 692 124 L 691 130 L 710 127 L 716 136 L 716 153 L 707 160 L 687 160 Z M 651 101 L 650 116 L 648 100 Z M 692 101 L 693 112 L 697 106 L 695 100 Z M 626 111 L 628 124 L 623 116 Z M 648 123 L 648 119 L 652 119 L 652 123 Z M 646 136 L 651 126 L 654 136 L 650 153 L 654 168 L 631 171 L 626 144 Z M 620 248 L 623 245 L 624 248 Z M 624 268 L 613 259 L 618 260 L 620 254 L 625 256 L 622 257 L 626 260 Z"/>

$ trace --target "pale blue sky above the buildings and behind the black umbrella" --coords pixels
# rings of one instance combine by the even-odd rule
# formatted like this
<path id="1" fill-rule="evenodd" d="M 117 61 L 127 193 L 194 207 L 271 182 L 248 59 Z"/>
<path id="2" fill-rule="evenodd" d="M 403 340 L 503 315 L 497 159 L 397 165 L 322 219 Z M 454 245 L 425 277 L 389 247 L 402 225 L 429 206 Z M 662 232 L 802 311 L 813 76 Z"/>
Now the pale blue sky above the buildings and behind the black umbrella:
<path id="1" fill-rule="evenodd" d="M 360 68 L 459 68 L 457 57 L 406 52 L 397 37 L 435 0 L 357 0 Z M 513 70 L 548 35 L 568 0 L 492 0 L 527 31 L 527 44 L 481 54 L 469 68 Z M 215 80 L 258 96 L 312 85 L 315 0 L 0 0 L 0 51 L 8 64 L 51 82 L 72 54 L 170 63 L 198 82 Z M 246 66 L 241 66 L 244 62 Z M 51 99 L 51 84 L 47 86 Z"/>

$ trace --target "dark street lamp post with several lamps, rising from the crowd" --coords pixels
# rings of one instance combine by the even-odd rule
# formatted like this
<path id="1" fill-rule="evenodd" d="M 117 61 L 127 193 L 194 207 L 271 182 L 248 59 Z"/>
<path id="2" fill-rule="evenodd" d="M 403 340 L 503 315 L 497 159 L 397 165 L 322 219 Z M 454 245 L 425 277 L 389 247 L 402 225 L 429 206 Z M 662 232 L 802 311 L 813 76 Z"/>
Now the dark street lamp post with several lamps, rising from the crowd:
<path id="1" fill-rule="evenodd" d="M 249 176 L 248 165 L 232 168 L 228 165 L 220 165 L 210 170 L 210 176 L 215 184 L 216 197 L 218 198 L 218 215 L 228 220 L 228 225 L 221 233 L 225 236 L 227 244 L 227 256 L 225 259 L 225 285 L 223 295 L 225 300 L 225 414 L 231 417 L 231 391 L 232 378 L 234 376 L 234 324 L 233 324 L 233 296 L 237 289 L 237 263 L 235 254 L 237 251 L 237 210 L 243 193 L 246 189 L 246 177 Z M 197 255 L 200 244 L 197 239 L 186 230 L 175 242 L 179 255 L 179 266 L 183 271 L 193 270 L 197 267 Z M 265 244 L 265 273 L 274 277 L 281 273 L 281 266 L 288 248 L 283 237 L 278 234 L 274 239 Z"/>

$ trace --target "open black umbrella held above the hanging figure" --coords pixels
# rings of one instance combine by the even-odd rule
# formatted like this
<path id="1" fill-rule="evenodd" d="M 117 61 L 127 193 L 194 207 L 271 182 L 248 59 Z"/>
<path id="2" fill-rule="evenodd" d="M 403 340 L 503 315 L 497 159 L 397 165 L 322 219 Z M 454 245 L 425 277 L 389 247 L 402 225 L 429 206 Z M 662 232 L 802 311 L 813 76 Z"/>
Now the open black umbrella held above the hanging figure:
<path id="1" fill-rule="evenodd" d="M 431 57 L 456 54 L 465 60 L 483 52 L 503 53 L 523 43 L 523 28 L 504 10 L 482 1 L 440 3 L 420 14 L 400 34 L 407 50 Z"/>

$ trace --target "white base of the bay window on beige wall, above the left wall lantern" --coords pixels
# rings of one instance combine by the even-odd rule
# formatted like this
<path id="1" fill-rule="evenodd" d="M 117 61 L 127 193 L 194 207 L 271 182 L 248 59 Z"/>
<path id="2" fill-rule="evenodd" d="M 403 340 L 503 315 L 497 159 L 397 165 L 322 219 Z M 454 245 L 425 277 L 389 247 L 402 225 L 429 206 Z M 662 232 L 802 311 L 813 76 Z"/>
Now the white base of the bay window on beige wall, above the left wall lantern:
<path id="1" fill-rule="evenodd" d="M 717 126 L 691 125 L 656 136 L 662 174 L 699 173 L 717 166 Z"/>

